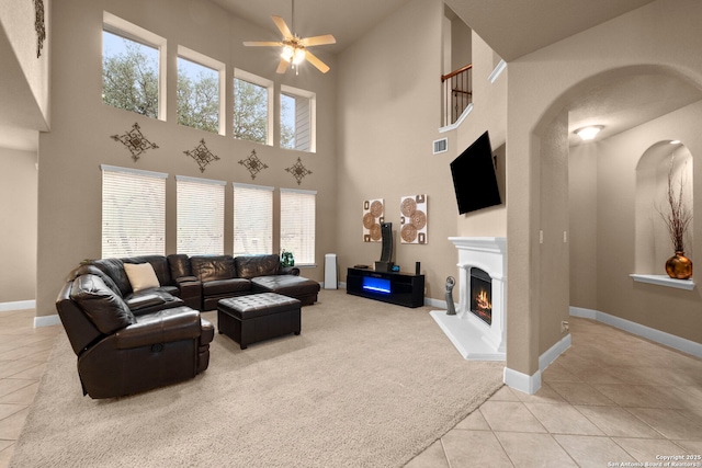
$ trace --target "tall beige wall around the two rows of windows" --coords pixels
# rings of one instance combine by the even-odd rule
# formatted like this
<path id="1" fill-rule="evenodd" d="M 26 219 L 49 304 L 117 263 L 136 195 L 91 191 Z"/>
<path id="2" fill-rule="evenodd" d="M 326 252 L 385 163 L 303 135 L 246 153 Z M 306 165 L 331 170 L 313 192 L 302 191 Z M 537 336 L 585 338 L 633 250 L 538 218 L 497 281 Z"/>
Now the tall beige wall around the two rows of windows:
<path id="1" fill-rule="evenodd" d="M 149 30 L 168 41 L 167 122 L 103 105 L 101 101 L 101 32 L 103 10 Z M 337 65 L 319 49 L 327 61 L 327 75 L 312 67 L 299 76 L 275 73 L 278 58 L 272 49 L 246 48 L 245 39 L 274 39 L 272 33 L 253 27 L 206 1 L 73 0 L 54 12 L 52 106 L 55 125 L 39 139 L 38 189 L 38 293 L 37 316 L 56 313 L 54 300 L 66 274 L 82 259 L 101 255 L 101 171 L 111 164 L 166 172 L 167 239 L 166 251 L 176 251 L 174 175 L 223 180 L 228 183 L 225 199 L 225 252 L 231 252 L 231 182 L 253 183 L 276 189 L 317 191 L 317 267 L 305 269 L 305 276 L 321 281 L 324 255 L 336 248 L 337 158 L 336 80 Z M 314 32 L 313 32 L 314 33 Z M 227 135 L 219 136 L 176 123 L 177 46 L 211 56 L 227 65 Z M 231 80 L 234 67 L 257 73 L 281 84 L 317 93 L 317 152 L 282 150 L 275 147 L 235 140 L 231 137 Z M 278 110 L 278 103 L 276 103 Z M 120 142 L 110 137 L 123 134 L 138 123 L 143 134 L 159 146 L 148 150 L 138 162 Z M 276 127 L 278 128 L 278 127 Z M 202 173 L 183 153 L 201 139 L 220 160 Z M 238 163 L 256 149 L 269 165 L 252 180 Z M 297 158 L 312 171 L 301 185 L 285 171 Z M 276 190 L 274 199 L 278 206 Z M 274 226 L 278 225 L 278 216 Z M 278 232 L 278 230 L 275 231 Z M 278 249 L 278 243 L 274 244 Z"/>

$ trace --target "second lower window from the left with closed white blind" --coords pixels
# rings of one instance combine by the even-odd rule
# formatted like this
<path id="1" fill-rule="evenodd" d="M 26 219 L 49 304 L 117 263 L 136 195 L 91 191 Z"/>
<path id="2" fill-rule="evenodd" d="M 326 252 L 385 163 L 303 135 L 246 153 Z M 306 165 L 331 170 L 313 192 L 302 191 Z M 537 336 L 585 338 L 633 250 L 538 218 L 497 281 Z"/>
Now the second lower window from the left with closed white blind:
<path id="1" fill-rule="evenodd" d="M 177 251 L 189 255 L 224 254 L 226 182 L 176 175 L 178 183 Z"/>

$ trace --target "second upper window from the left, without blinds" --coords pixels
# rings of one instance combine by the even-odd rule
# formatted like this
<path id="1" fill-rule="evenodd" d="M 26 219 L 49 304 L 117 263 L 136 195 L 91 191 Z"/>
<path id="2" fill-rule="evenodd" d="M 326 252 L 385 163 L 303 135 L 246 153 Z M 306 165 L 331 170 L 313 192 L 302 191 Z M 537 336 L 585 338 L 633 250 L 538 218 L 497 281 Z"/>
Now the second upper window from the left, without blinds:
<path id="1" fill-rule="evenodd" d="M 178 123 L 224 135 L 224 64 L 178 46 Z"/>

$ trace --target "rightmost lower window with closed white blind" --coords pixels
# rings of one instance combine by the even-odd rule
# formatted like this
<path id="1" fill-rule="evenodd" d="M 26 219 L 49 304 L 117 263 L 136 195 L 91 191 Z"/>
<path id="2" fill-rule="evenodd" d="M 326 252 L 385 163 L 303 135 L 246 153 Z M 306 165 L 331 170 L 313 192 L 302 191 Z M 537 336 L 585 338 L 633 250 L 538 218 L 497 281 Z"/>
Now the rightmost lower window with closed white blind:
<path id="1" fill-rule="evenodd" d="M 315 264 L 317 192 L 281 189 L 281 250 L 293 252 L 295 265 Z"/>

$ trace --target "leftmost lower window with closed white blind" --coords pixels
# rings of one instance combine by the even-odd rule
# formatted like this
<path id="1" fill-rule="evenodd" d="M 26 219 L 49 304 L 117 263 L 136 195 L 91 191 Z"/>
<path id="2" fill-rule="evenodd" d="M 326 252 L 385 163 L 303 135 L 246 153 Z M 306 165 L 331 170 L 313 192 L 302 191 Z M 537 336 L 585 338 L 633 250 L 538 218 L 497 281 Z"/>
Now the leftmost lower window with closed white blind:
<path id="1" fill-rule="evenodd" d="M 166 179 L 161 172 L 101 165 L 102 258 L 166 252 Z"/>

